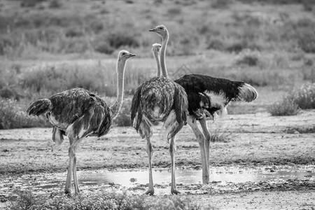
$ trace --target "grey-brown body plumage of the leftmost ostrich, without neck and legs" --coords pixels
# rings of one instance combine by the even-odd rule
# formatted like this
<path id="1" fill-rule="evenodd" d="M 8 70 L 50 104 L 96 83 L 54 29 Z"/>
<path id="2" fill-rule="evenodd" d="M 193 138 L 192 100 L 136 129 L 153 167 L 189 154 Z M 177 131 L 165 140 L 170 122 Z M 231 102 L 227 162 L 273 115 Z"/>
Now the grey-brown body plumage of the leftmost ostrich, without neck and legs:
<path id="1" fill-rule="evenodd" d="M 83 88 L 73 88 L 39 99 L 27 109 L 29 115 L 46 113 L 54 125 L 52 139 L 61 144 L 63 135 L 72 138 L 97 136 L 109 132 L 112 117 L 103 99 Z"/>

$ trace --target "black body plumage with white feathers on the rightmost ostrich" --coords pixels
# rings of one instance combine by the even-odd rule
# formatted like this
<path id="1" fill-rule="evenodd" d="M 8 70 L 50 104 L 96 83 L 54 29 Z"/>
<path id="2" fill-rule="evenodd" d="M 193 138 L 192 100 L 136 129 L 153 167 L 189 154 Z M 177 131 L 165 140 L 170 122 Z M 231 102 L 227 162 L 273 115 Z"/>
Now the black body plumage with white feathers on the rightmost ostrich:
<path id="1" fill-rule="evenodd" d="M 174 81 L 186 90 L 189 114 L 197 120 L 214 116 L 216 111 L 224 113 L 230 101 L 251 102 L 258 97 L 254 87 L 241 81 L 200 74 L 188 74 Z"/>

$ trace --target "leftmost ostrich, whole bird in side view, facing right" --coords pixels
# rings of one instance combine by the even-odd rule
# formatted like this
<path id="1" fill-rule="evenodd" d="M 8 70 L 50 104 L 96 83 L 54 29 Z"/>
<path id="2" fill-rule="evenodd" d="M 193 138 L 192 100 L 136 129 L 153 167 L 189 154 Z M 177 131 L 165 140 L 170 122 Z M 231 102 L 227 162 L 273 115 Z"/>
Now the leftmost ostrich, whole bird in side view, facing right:
<path id="1" fill-rule="evenodd" d="M 27 114 L 46 117 L 54 125 L 52 140 L 61 144 L 63 136 L 69 137 L 69 167 L 66 176 L 64 193 L 71 195 L 71 176 L 76 195 L 79 193 L 76 178 L 76 149 L 84 137 L 101 137 L 107 134 L 123 103 L 124 74 L 127 59 L 135 55 L 121 50 L 117 62 L 117 99 L 109 107 L 103 99 L 83 88 L 73 88 L 52 95 L 49 99 L 38 99 L 32 102 Z"/>

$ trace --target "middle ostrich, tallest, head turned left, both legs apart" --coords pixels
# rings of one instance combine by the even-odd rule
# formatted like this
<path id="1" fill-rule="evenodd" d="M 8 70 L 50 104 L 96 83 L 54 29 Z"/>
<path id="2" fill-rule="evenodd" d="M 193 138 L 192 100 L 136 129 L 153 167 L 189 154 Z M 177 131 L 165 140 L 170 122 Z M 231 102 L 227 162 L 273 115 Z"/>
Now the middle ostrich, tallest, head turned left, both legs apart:
<path id="1" fill-rule="evenodd" d="M 158 26 L 150 31 L 155 31 L 162 36 L 160 55 L 165 55 L 169 34 L 165 26 Z M 178 194 L 175 181 L 175 137 L 186 122 L 188 114 L 187 94 L 181 85 L 174 83 L 167 75 L 165 56 L 161 56 L 162 76 L 153 77 L 142 83 L 132 98 L 131 118 L 134 127 L 143 139 L 147 141 L 149 186 L 146 194 L 153 195 L 152 155 L 153 122 L 164 122 L 169 153 L 171 155 L 172 186 L 171 193 Z"/>

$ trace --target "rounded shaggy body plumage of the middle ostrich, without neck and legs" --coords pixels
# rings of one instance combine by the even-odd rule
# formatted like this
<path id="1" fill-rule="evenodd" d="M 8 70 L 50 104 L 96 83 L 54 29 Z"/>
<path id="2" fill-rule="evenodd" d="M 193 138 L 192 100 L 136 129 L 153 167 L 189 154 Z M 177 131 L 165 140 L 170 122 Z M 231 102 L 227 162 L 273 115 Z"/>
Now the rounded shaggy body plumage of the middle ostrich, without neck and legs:
<path id="1" fill-rule="evenodd" d="M 165 122 L 168 139 L 174 137 L 187 119 L 186 96 L 181 85 L 165 76 L 154 77 L 142 83 L 132 98 L 131 108 L 132 123 L 141 137 L 152 136 L 152 122 L 156 121 Z M 170 115 L 171 111 L 174 114 Z"/>

